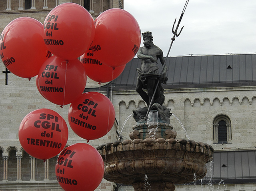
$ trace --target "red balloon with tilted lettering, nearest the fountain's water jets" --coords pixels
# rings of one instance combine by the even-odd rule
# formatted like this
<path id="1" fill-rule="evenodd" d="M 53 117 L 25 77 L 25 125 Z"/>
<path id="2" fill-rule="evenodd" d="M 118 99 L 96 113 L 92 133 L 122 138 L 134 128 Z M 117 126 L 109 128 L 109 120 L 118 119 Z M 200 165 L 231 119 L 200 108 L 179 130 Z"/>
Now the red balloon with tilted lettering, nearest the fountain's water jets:
<path id="1" fill-rule="evenodd" d="M 80 137 L 92 140 L 103 137 L 115 121 L 115 109 L 108 97 L 98 92 L 86 92 L 72 102 L 68 122 Z"/>

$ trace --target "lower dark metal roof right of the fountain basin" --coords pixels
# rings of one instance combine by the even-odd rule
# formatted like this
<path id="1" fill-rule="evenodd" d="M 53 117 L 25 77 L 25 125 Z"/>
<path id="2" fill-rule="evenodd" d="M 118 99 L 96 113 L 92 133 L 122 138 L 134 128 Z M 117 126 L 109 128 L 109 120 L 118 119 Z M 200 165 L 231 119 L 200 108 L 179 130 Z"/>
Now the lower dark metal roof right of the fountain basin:
<path id="1" fill-rule="evenodd" d="M 214 183 L 256 183 L 256 151 L 225 151 L 213 154 L 213 173 L 207 168 Z"/>

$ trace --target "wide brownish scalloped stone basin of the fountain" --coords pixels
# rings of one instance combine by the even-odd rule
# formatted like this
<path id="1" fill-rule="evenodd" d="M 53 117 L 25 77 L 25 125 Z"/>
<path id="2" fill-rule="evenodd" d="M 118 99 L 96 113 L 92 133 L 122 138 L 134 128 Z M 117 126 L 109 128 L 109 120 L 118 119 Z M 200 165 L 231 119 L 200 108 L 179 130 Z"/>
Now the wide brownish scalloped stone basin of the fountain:
<path id="1" fill-rule="evenodd" d="M 174 138 L 116 141 L 97 150 L 105 163 L 104 179 L 133 185 L 135 191 L 145 190 L 145 175 L 154 191 L 174 191 L 175 184 L 201 179 L 214 151 L 205 143 Z"/>

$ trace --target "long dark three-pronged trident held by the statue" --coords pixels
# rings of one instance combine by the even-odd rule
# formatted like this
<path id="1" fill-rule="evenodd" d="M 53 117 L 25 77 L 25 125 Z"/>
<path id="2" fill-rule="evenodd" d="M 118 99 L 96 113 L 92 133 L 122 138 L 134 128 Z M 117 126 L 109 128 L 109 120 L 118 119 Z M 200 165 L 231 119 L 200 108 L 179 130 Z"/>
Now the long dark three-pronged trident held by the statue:
<path id="1" fill-rule="evenodd" d="M 172 48 L 172 43 L 174 42 L 175 37 L 178 37 L 178 36 L 180 35 L 180 33 L 182 32 L 182 29 L 184 28 L 184 26 L 183 26 L 183 27 L 181 28 L 180 32 L 177 34 L 178 28 L 179 28 L 179 26 L 180 26 L 180 22 L 181 22 L 181 20 L 182 20 L 182 17 L 183 17 L 183 15 L 184 15 L 184 12 L 185 12 L 185 10 L 186 10 L 186 8 L 187 8 L 188 1 L 189 1 L 189 0 L 186 0 L 185 6 L 184 6 L 184 8 L 183 8 L 183 10 L 182 10 L 182 13 L 181 13 L 181 15 L 180 15 L 180 19 L 179 19 L 179 21 L 178 21 L 178 24 L 177 24 L 177 26 L 176 26 L 176 29 L 173 30 L 173 29 L 174 29 L 174 25 L 175 25 L 175 23 L 176 23 L 176 19 L 177 19 L 177 18 L 175 18 L 174 24 L 173 24 L 173 26 L 172 26 L 172 33 L 173 33 L 174 35 L 173 35 L 173 37 L 172 37 L 172 42 L 171 42 L 170 47 L 169 47 L 169 50 L 168 50 L 168 52 L 167 52 L 166 59 L 167 59 L 168 56 L 169 56 L 170 50 L 171 50 L 171 48 Z M 162 70 L 161 70 L 159 76 L 161 76 L 161 74 L 162 74 L 162 72 L 163 72 L 165 66 L 166 66 L 166 62 L 164 62 L 163 66 L 162 66 Z M 152 96 L 152 99 L 151 99 L 151 101 L 150 101 L 150 104 L 148 105 L 148 111 L 147 111 L 147 114 L 146 114 L 146 117 L 145 117 L 145 118 L 148 117 L 148 113 L 149 113 L 150 108 L 151 108 L 151 106 L 152 106 L 152 104 L 153 104 L 153 100 L 154 100 L 154 97 L 155 97 L 155 94 L 156 94 L 156 90 L 157 90 L 159 81 L 160 81 L 160 78 L 158 78 L 158 81 L 157 81 L 157 83 L 156 83 L 156 88 L 155 88 L 154 94 L 153 94 L 153 96 Z"/>

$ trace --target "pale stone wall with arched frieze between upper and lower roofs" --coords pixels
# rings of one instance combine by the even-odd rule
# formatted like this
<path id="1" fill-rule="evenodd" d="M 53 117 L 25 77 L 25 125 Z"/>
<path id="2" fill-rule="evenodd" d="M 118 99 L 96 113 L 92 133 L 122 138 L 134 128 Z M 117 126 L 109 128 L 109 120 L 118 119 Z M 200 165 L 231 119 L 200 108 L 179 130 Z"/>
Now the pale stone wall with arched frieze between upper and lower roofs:
<path id="1" fill-rule="evenodd" d="M 189 139 L 208 143 L 216 150 L 254 149 L 256 147 L 254 91 L 255 87 L 237 87 L 232 90 L 230 88 L 166 90 L 164 104 L 180 119 Z M 129 95 L 126 93 L 118 92 L 113 96 L 115 105 L 119 105 L 119 128 L 132 114 L 133 109 L 144 106 L 141 104 L 144 101 L 135 91 Z M 231 121 L 228 143 L 218 143 L 214 139 L 213 123 L 220 115 L 225 115 Z M 177 131 L 178 139 L 188 139 L 174 116 L 170 117 L 170 123 Z M 135 124 L 136 121 L 130 117 L 124 128 L 119 131 L 128 138 Z"/>

